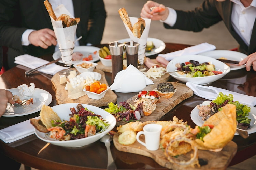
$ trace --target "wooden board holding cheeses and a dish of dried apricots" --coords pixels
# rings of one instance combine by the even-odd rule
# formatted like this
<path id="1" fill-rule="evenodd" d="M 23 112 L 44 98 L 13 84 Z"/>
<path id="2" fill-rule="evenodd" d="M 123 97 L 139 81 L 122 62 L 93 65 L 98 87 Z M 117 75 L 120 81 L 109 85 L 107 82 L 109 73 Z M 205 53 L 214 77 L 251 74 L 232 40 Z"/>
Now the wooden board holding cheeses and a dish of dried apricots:
<path id="1" fill-rule="evenodd" d="M 72 68 L 71 70 L 76 70 L 75 68 Z M 101 70 L 98 69 L 94 69 L 94 72 L 98 72 L 101 74 L 101 79 L 99 80 L 101 83 L 105 83 L 106 85 L 108 85 L 108 82 L 106 81 L 105 78 L 105 73 Z M 95 100 L 95 99 L 91 99 L 89 98 L 87 95 L 84 95 L 78 99 L 70 99 L 68 98 L 68 91 L 64 89 L 66 83 L 64 84 L 59 84 L 59 73 L 56 73 L 51 81 L 56 89 L 56 100 L 58 104 L 63 104 L 63 103 L 83 103 L 83 104 L 89 104 L 89 105 L 93 105 L 93 106 L 97 106 L 97 107 L 101 107 L 101 106 L 108 106 L 108 103 L 113 102 L 115 103 L 117 101 L 117 95 L 111 90 L 109 89 L 105 96 L 99 100 Z"/>

